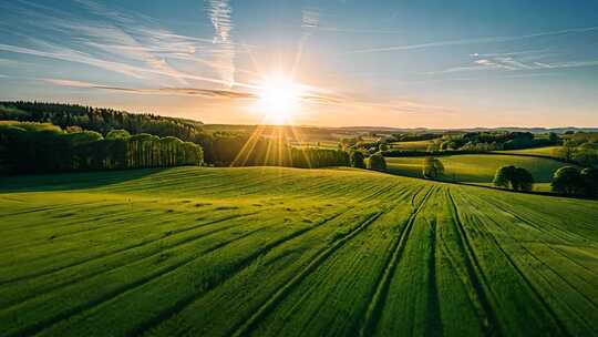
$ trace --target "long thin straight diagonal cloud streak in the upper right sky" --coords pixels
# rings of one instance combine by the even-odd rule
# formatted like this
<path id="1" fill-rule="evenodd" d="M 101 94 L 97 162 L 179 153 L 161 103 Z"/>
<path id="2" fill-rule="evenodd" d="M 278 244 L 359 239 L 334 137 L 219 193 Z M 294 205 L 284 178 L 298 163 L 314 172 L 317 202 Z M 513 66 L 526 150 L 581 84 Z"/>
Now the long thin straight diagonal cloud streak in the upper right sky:
<path id="1" fill-rule="evenodd" d="M 573 29 L 546 31 L 546 32 L 539 32 L 539 33 L 533 33 L 533 34 L 524 34 L 524 35 L 461 39 L 461 40 L 448 40 L 448 41 L 436 41 L 436 42 L 419 43 L 419 44 L 405 44 L 405 45 L 392 45 L 392 47 L 381 47 L 381 48 L 370 48 L 370 49 L 358 49 L 358 50 L 346 52 L 346 54 L 405 51 L 405 50 L 416 50 L 416 49 L 425 49 L 425 48 L 434 48 L 434 47 L 447 47 L 447 45 L 467 45 L 467 44 L 511 42 L 511 41 L 532 39 L 532 38 L 563 35 L 563 34 L 571 34 L 571 33 L 584 33 L 584 32 L 592 32 L 592 31 L 598 31 L 598 27 L 573 28 Z"/>

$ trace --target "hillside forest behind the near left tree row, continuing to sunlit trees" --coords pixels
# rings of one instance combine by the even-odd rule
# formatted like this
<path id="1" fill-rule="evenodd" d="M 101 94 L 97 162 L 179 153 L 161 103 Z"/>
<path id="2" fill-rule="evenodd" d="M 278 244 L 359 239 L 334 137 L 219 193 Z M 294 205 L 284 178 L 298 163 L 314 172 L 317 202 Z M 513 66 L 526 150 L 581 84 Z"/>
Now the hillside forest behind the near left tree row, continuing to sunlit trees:
<path id="1" fill-rule="evenodd" d="M 0 120 L 51 123 L 68 132 L 86 130 L 106 136 L 113 130 L 124 130 L 133 136 L 151 134 L 158 137 L 176 137 L 183 142 L 200 145 L 204 162 L 214 166 L 239 165 L 239 162 L 244 162 L 245 165 L 297 167 L 349 165 L 348 154 L 344 151 L 305 149 L 298 153 L 290 146 L 281 146 L 278 140 L 260 136 L 256 141 L 251 132 L 210 133 L 204 130 L 202 122 L 113 109 L 43 102 L 0 102 Z M 251 146 L 248 147 L 247 144 Z M 251 151 L 248 151 L 249 149 Z"/>

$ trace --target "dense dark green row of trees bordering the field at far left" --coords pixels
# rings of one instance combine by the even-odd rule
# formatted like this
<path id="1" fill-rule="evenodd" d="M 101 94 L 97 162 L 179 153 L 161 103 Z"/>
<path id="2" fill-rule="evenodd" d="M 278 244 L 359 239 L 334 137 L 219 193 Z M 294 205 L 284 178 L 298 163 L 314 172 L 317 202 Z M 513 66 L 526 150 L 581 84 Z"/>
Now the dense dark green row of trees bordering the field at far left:
<path id="1" fill-rule="evenodd" d="M 173 136 L 124 130 L 105 136 L 95 131 L 71 130 L 33 122 L 0 124 L 2 173 L 49 173 L 200 165 L 202 146 Z"/>

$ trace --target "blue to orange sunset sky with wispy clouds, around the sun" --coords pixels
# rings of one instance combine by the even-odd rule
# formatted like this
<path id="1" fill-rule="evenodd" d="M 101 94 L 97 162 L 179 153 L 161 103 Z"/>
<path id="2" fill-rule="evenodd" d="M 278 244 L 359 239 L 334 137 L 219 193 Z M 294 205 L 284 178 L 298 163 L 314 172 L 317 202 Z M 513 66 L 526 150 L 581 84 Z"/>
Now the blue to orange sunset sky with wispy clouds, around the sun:
<path id="1" fill-rule="evenodd" d="M 259 123 L 598 126 L 598 1 L 0 0 L 0 100 Z"/>

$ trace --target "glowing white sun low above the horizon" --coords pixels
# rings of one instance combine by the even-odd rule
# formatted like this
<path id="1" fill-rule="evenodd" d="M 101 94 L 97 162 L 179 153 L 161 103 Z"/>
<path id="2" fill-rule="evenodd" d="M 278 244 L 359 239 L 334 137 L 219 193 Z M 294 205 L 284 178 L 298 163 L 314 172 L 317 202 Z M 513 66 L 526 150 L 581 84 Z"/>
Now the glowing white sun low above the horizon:
<path id="1" fill-rule="evenodd" d="M 265 123 L 292 124 L 299 112 L 302 89 L 285 76 L 266 78 L 258 85 L 258 109 L 264 113 Z"/>

